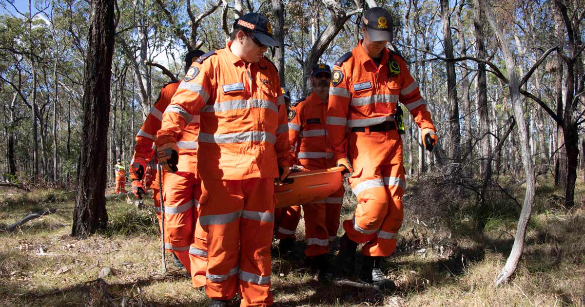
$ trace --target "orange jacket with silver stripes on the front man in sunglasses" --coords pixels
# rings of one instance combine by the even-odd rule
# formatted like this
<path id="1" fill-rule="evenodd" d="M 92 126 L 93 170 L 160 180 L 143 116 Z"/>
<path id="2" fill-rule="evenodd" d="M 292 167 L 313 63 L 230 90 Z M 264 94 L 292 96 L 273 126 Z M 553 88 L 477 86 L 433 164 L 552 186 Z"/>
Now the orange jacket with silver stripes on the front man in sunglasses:
<path id="1" fill-rule="evenodd" d="M 192 64 L 164 112 L 156 145 L 176 142 L 200 112 L 200 178 L 276 178 L 278 166 L 288 167 L 294 158 L 280 79 L 267 58 L 246 69 L 229 46 Z"/>

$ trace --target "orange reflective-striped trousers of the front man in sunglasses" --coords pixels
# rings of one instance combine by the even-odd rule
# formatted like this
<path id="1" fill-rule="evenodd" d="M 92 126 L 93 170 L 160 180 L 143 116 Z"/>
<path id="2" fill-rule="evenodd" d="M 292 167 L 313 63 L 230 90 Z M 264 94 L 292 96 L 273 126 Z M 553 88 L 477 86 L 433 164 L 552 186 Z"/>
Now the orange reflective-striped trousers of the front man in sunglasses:
<path id="1" fill-rule="evenodd" d="M 207 231 L 209 298 L 269 306 L 274 178 L 203 179 L 199 223 Z"/>

